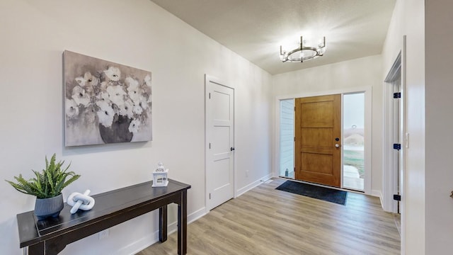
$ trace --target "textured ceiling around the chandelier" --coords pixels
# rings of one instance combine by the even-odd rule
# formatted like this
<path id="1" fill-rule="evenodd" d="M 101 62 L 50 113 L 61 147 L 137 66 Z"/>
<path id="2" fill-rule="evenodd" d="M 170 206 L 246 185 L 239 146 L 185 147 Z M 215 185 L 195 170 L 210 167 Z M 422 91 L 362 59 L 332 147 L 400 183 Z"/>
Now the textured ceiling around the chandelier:
<path id="1" fill-rule="evenodd" d="M 378 55 L 396 0 L 151 0 L 270 74 Z M 326 53 L 281 62 L 283 40 L 326 36 Z M 295 47 L 294 47 L 295 48 Z"/>

